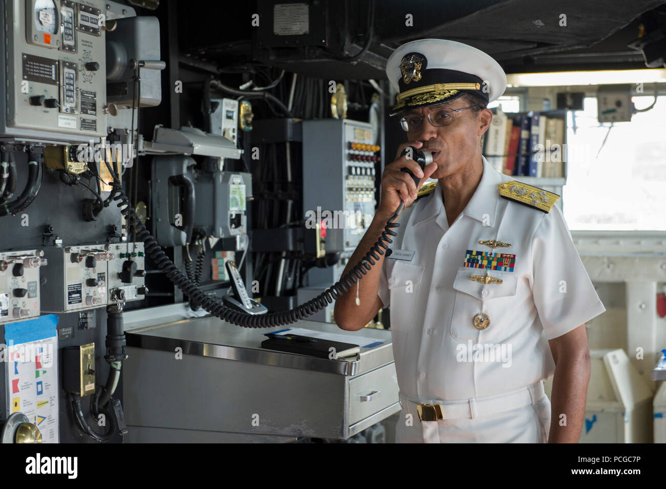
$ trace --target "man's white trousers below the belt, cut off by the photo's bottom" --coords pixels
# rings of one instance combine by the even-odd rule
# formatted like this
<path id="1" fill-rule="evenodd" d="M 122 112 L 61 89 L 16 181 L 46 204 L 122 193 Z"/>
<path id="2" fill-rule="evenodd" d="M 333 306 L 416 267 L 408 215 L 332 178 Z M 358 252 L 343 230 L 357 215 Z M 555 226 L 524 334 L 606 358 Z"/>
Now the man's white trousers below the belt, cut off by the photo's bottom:
<path id="1" fill-rule="evenodd" d="M 396 443 L 546 443 L 550 400 L 545 394 L 533 404 L 490 416 L 422 422 L 403 403 L 396 424 Z"/>

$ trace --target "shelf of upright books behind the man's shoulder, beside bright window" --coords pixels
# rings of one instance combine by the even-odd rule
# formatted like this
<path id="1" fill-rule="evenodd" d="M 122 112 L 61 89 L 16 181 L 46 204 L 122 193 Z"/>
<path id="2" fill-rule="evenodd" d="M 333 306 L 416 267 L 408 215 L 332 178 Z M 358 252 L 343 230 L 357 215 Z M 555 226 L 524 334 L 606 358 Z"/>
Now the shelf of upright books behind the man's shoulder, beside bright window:
<path id="1" fill-rule="evenodd" d="M 482 153 L 488 163 L 517 181 L 561 196 L 567 182 L 567 111 L 492 111 L 493 122 L 482 141 Z M 537 131 L 533 131 L 534 127 Z M 556 205 L 562 209 L 562 199 Z"/>

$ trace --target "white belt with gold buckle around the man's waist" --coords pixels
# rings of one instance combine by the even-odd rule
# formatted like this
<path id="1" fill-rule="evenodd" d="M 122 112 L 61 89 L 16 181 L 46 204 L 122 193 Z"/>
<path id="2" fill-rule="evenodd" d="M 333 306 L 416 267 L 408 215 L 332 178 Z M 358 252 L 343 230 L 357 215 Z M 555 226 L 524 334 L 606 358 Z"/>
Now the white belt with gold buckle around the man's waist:
<path id="1" fill-rule="evenodd" d="M 543 381 L 521 387 L 503 394 L 469 398 L 466 400 L 439 400 L 424 403 L 422 400 L 408 398 L 399 393 L 400 405 L 412 416 L 421 420 L 426 443 L 439 443 L 438 420 L 456 418 L 481 418 L 500 412 L 535 404 L 545 396 Z"/>

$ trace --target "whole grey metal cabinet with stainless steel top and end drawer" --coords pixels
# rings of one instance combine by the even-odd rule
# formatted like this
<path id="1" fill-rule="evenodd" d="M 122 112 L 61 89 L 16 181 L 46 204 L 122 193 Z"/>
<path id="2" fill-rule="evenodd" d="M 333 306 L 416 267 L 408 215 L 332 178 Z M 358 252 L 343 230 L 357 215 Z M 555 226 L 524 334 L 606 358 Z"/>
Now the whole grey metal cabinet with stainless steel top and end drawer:
<path id="1" fill-rule="evenodd" d="M 260 348 L 264 333 L 284 326 L 240 328 L 204 317 L 132 330 L 123 367 L 130 441 L 344 439 L 400 410 L 390 331 L 292 326 L 384 343 L 352 361 L 328 360 Z"/>

